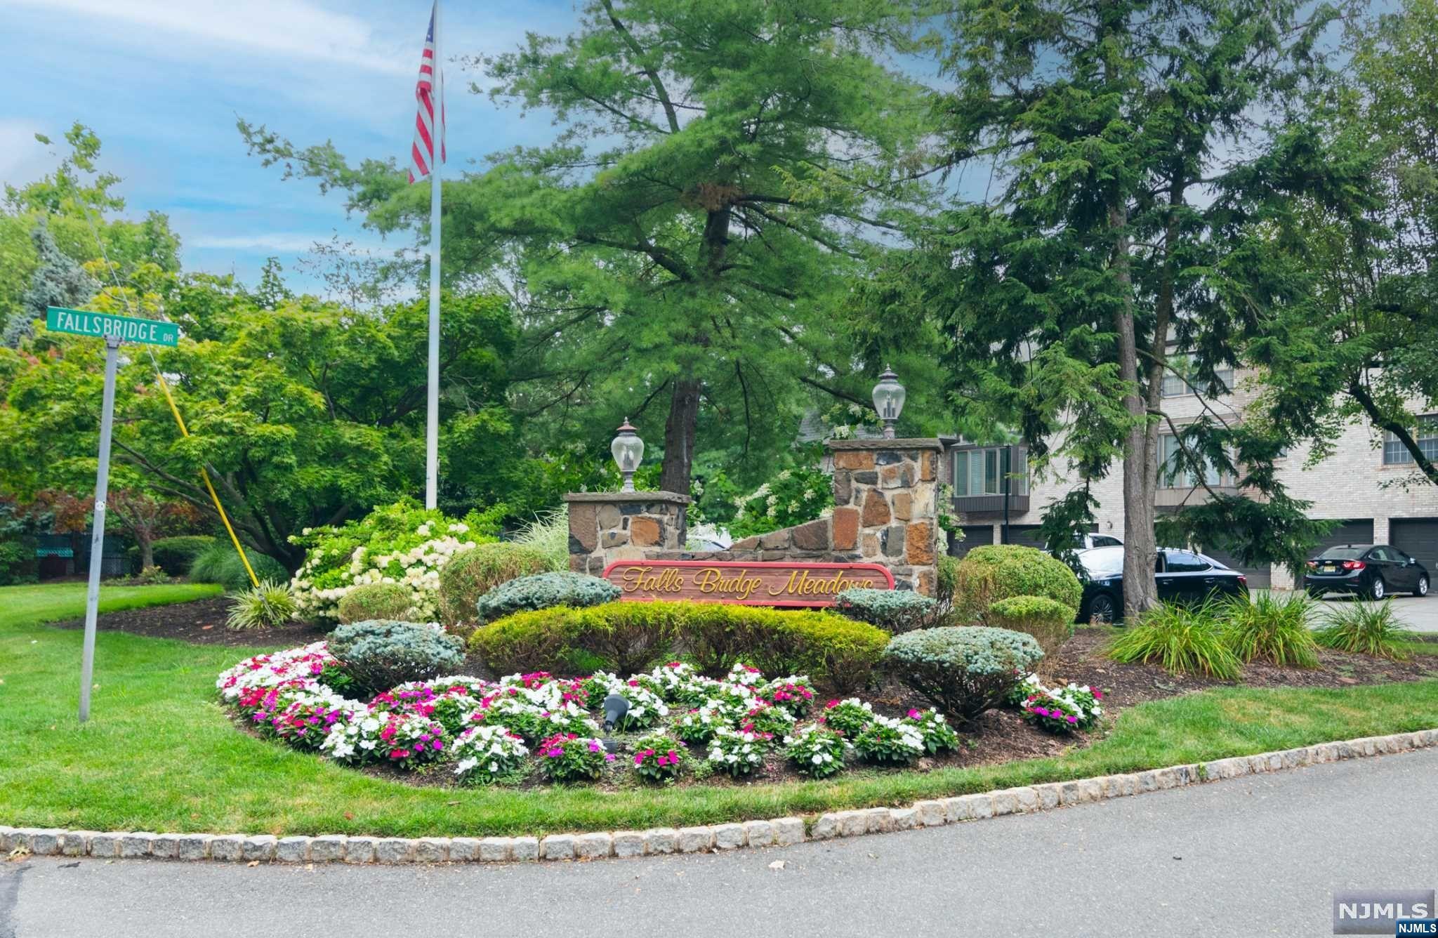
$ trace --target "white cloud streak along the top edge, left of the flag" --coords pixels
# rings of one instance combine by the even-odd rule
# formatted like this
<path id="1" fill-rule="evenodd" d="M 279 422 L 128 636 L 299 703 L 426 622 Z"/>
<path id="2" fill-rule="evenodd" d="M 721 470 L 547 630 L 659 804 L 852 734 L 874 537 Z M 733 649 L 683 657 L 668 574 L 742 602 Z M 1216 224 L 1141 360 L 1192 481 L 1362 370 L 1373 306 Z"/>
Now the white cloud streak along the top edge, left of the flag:
<path id="1" fill-rule="evenodd" d="M 361 19 L 324 10 L 306 0 L 0 0 L 72 13 L 138 30 L 144 45 L 164 58 L 196 58 L 201 50 L 175 46 L 198 42 L 244 49 L 270 58 L 349 65 L 368 72 L 408 75 L 418 69 L 418 46 L 410 53 L 377 39 Z M 420 29 L 417 26 L 416 29 Z"/>

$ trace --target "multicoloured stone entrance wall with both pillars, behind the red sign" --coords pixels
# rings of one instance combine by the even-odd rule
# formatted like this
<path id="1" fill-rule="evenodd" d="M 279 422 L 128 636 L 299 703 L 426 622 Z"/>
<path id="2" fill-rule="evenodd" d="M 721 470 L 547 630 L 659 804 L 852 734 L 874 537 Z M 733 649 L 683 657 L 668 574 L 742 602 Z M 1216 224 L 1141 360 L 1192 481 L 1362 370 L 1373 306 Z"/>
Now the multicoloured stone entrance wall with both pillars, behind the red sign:
<path id="1" fill-rule="evenodd" d="M 587 492 L 569 502 L 569 568 L 600 574 L 617 560 L 810 561 L 883 564 L 900 590 L 933 596 L 942 554 L 936 439 L 830 440 L 834 511 L 828 518 L 686 551 L 684 506 L 673 492 Z"/>

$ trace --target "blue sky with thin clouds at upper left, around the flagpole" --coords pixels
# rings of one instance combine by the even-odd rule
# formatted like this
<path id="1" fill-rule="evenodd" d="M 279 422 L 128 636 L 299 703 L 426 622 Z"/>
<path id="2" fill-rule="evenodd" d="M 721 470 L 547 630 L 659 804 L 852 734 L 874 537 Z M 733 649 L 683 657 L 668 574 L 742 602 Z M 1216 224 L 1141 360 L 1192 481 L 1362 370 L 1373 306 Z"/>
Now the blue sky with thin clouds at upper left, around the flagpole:
<path id="1" fill-rule="evenodd" d="M 411 242 L 364 230 L 342 193 L 282 181 L 246 155 L 236 118 L 299 145 L 332 140 L 352 163 L 407 160 L 429 14 L 429 0 L 0 0 L 0 183 L 53 168 L 35 134 L 63 144 L 81 121 L 124 178 L 125 214 L 167 213 L 187 270 L 253 282 L 275 256 L 295 286 L 318 288 L 295 265 L 316 240 L 381 253 Z M 571 0 L 444 0 L 441 55 L 503 52 L 575 19 Z M 552 137 L 545 117 L 472 94 L 459 62 L 446 78 L 454 170 Z"/>

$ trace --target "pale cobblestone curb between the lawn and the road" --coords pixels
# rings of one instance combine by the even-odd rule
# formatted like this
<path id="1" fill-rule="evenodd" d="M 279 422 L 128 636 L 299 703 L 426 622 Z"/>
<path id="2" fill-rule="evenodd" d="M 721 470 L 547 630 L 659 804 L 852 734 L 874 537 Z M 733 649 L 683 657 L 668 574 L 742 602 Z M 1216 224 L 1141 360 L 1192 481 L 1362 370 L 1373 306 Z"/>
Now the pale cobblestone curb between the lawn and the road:
<path id="1" fill-rule="evenodd" d="M 1086 801 L 1120 798 L 1205 781 L 1276 773 L 1368 755 L 1391 755 L 1438 745 L 1438 729 L 1320 742 L 1297 750 L 1171 765 L 1125 775 L 1100 775 L 1004 788 L 909 807 L 871 807 L 802 817 L 751 820 L 707 827 L 654 827 L 546 837 L 275 837 L 273 834 L 157 834 L 148 832 L 56 830 L 0 826 L 0 857 L 36 856 L 272 863 L 515 863 L 600 857 L 706 853 L 739 847 L 787 847 L 833 837 L 939 827 L 1001 814 L 1028 814 Z"/>

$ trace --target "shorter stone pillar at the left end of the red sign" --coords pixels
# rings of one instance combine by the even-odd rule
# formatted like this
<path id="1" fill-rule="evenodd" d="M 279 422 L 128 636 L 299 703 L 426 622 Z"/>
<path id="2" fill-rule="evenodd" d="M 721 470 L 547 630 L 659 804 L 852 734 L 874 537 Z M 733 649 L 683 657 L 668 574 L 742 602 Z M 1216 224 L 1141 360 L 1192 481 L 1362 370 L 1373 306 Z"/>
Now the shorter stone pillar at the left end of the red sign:
<path id="1" fill-rule="evenodd" d="M 569 570 L 600 575 L 617 560 L 679 551 L 689 496 L 677 492 L 571 492 Z"/>

